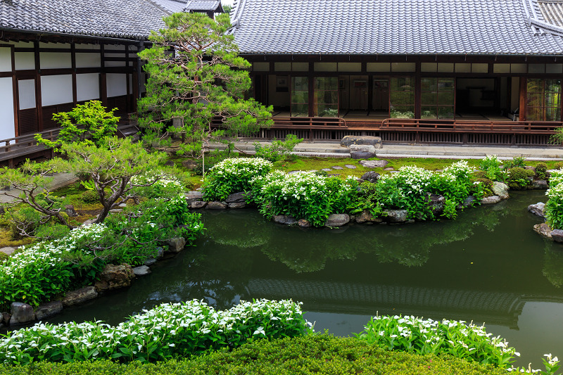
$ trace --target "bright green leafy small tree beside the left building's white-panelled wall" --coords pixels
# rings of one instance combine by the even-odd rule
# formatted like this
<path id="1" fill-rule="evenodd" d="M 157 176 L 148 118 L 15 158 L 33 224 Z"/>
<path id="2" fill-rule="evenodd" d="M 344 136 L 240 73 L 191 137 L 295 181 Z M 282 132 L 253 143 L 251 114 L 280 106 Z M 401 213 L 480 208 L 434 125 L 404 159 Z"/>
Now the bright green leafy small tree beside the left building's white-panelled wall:
<path id="1" fill-rule="evenodd" d="M 53 120 L 61 126 L 56 141 L 44 139 L 41 134 L 35 134 L 35 139 L 53 148 L 71 143 L 102 146 L 108 137 L 115 135 L 120 120 L 113 115 L 118 108 L 106 109 L 101 101 L 87 101 L 77 104 L 70 112 L 55 113 Z"/>

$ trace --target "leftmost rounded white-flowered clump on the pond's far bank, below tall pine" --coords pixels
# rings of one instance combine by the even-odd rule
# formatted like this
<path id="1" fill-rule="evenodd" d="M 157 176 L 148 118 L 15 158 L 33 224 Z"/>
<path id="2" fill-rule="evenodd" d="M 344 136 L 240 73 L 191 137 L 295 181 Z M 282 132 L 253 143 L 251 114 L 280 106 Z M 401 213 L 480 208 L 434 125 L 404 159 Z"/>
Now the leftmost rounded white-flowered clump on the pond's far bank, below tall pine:
<path id="1" fill-rule="evenodd" d="M 230 158 L 217 163 L 203 182 L 206 201 L 224 201 L 239 191 L 251 190 L 251 179 L 263 177 L 272 170 L 272 163 L 255 158 Z"/>

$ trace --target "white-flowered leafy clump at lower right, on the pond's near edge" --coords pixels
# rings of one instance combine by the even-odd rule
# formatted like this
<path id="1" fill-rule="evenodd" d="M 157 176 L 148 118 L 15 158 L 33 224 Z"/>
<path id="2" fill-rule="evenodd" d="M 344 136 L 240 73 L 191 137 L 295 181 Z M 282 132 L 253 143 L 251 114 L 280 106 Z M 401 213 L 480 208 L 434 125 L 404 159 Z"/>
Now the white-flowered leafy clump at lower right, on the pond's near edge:
<path id="1" fill-rule="evenodd" d="M 481 364 L 506 368 L 519 356 L 500 337 L 491 337 L 484 326 L 455 320 L 420 319 L 412 316 L 372 317 L 357 338 L 388 350 L 420 355 L 452 355 Z"/>

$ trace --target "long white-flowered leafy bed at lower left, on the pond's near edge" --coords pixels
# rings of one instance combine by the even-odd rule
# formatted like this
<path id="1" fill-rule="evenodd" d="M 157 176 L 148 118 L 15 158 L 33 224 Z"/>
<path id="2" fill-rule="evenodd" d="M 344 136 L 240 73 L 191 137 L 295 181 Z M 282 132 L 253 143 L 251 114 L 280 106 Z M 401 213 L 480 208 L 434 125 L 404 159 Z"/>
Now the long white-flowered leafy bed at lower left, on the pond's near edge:
<path id="1" fill-rule="evenodd" d="M 0 340 L 0 361 L 9 364 L 94 359 L 156 362 L 236 348 L 258 338 L 287 338 L 306 333 L 312 333 L 311 325 L 303 318 L 301 303 L 291 300 L 241 301 L 224 311 L 191 300 L 145 310 L 118 326 L 101 322 L 35 324 Z"/>

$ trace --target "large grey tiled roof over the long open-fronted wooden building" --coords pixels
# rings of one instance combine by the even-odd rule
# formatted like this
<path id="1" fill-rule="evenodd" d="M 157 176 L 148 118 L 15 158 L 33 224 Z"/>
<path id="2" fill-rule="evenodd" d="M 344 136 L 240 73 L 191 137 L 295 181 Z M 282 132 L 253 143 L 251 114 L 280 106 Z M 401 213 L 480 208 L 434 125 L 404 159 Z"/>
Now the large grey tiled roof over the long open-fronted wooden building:
<path id="1" fill-rule="evenodd" d="M 532 1 L 238 0 L 231 32 L 241 53 L 563 55 Z"/>

